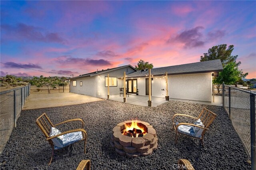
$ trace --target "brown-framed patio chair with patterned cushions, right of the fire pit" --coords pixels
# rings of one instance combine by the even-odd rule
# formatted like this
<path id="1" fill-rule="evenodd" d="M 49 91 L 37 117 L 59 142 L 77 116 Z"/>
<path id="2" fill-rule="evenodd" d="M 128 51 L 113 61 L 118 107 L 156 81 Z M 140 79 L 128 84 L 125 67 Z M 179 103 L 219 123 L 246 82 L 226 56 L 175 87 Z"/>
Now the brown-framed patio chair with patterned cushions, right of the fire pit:
<path id="1" fill-rule="evenodd" d="M 194 124 L 192 123 L 175 123 L 174 119 L 178 116 L 190 117 L 192 119 L 196 119 Z M 175 129 L 175 144 L 178 141 L 178 133 L 185 134 L 190 137 L 201 139 L 202 146 L 204 147 L 204 132 L 208 130 L 208 127 L 211 125 L 212 121 L 216 118 L 216 114 L 209 111 L 206 108 L 203 108 L 200 115 L 198 117 L 192 117 L 184 114 L 175 114 L 172 117 L 172 125 Z"/>

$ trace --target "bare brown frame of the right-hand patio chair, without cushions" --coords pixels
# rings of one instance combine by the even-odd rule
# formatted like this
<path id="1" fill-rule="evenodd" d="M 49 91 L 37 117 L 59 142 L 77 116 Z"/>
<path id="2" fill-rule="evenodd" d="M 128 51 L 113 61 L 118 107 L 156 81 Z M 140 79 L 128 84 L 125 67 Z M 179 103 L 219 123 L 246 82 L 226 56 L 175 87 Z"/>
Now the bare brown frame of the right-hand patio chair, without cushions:
<path id="1" fill-rule="evenodd" d="M 174 119 L 175 119 L 175 117 L 178 117 L 178 116 L 190 117 L 190 118 L 196 119 L 196 120 L 200 119 L 201 122 L 203 123 L 204 127 L 200 127 L 200 126 L 194 125 L 194 124 L 192 124 L 192 123 L 179 123 L 178 125 L 176 125 L 175 122 L 174 122 Z M 178 127 L 179 127 L 180 125 L 189 125 L 189 126 L 193 126 L 193 127 L 198 127 L 198 128 L 204 129 L 203 132 L 202 132 L 202 135 L 201 135 L 200 137 L 190 136 L 190 135 L 188 135 L 188 134 L 184 134 L 184 135 L 187 135 L 187 136 L 190 136 L 190 137 L 194 137 L 194 138 L 199 138 L 199 139 L 201 139 L 202 146 L 203 146 L 203 148 L 204 148 L 204 140 L 203 140 L 203 139 L 204 139 L 204 133 L 205 133 L 206 130 L 209 130 L 208 127 L 212 124 L 212 121 L 214 121 L 214 119 L 216 118 L 216 116 L 217 116 L 217 115 L 216 115 L 215 113 L 213 113 L 212 111 L 209 111 L 209 110 L 206 109 L 206 108 L 203 108 L 203 109 L 202 109 L 202 111 L 201 111 L 201 113 L 200 113 L 200 115 L 199 115 L 198 117 L 192 117 L 192 116 L 184 115 L 184 114 L 175 114 L 175 115 L 172 117 L 172 125 L 173 125 L 173 129 L 175 129 L 175 134 L 176 134 L 176 136 L 175 136 L 175 144 L 177 144 L 177 141 L 178 141 L 178 133 L 180 133 L 180 132 L 178 132 L 178 130 L 177 130 Z M 180 134 L 183 134 L 183 133 L 180 133 Z"/>

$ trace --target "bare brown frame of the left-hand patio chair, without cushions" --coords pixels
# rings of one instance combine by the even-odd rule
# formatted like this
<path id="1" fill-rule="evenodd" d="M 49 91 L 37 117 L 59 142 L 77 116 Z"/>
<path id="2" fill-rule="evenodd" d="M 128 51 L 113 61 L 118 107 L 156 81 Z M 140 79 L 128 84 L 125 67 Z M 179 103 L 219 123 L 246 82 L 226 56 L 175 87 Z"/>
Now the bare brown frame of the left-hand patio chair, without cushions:
<path id="1" fill-rule="evenodd" d="M 62 132 L 60 134 L 57 134 L 55 136 L 49 136 L 50 135 L 50 130 L 51 130 L 51 127 L 56 127 L 58 125 L 61 125 L 63 123 L 68 123 L 68 122 L 71 122 L 71 121 L 80 121 L 82 123 L 82 128 L 77 128 L 77 129 L 73 129 L 73 130 L 68 130 L 66 132 Z M 47 123 L 48 122 L 48 123 Z M 79 141 L 82 141 L 84 140 L 84 153 L 86 153 L 86 139 L 87 139 L 87 133 L 86 131 L 83 129 L 84 128 L 84 121 L 82 119 L 70 119 L 70 120 L 67 120 L 67 121 L 64 121 L 64 122 L 61 122 L 61 123 L 57 123 L 56 125 L 54 125 L 49 117 L 46 115 L 46 113 L 42 114 L 40 117 L 38 117 L 36 119 L 36 124 L 38 125 L 38 127 L 42 130 L 42 132 L 44 133 L 44 135 L 46 136 L 46 140 L 49 142 L 49 144 L 52 146 L 52 156 L 50 158 L 50 161 L 48 163 L 48 165 L 50 165 L 52 163 L 52 158 L 53 158 L 53 155 L 54 155 L 54 143 L 52 142 L 52 139 L 53 138 L 56 138 L 58 136 L 61 136 L 63 134 L 68 134 L 68 133 L 71 133 L 71 132 L 82 132 L 82 136 L 83 138 Z M 49 126 L 50 125 L 50 126 Z M 77 141 L 77 142 L 79 142 Z M 76 143 L 76 142 L 74 142 Z M 72 143 L 72 144 L 74 144 Z M 70 146 L 71 144 L 67 145 L 67 146 Z M 66 147 L 66 146 L 64 146 Z"/>

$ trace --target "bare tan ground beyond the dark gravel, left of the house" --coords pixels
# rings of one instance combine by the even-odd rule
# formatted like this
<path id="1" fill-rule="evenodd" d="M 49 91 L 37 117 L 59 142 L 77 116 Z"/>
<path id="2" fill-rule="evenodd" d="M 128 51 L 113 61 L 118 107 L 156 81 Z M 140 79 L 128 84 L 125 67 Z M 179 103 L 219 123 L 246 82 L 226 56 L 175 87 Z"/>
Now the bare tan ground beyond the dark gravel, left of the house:
<path id="1" fill-rule="evenodd" d="M 69 93 L 68 86 L 66 86 L 66 89 L 64 89 L 64 93 L 63 89 L 59 92 L 58 87 L 57 89 L 50 90 L 50 94 L 48 94 L 47 87 L 40 88 L 40 91 L 37 91 L 36 89 L 38 88 L 31 86 L 30 96 L 28 97 L 23 110 L 77 105 L 103 100 L 97 97 Z"/>

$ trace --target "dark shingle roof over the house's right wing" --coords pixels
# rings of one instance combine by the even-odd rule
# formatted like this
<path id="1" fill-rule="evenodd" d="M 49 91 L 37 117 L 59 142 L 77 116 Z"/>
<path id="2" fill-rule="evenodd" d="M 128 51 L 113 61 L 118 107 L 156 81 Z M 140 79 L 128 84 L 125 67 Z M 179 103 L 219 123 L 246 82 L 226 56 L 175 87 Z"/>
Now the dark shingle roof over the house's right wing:
<path id="1" fill-rule="evenodd" d="M 182 65 L 173 65 L 168 67 L 159 67 L 151 69 L 152 75 L 164 75 L 167 71 L 168 75 L 178 75 L 178 74 L 191 74 L 191 73 L 209 73 L 209 72 L 220 72 L 223 70 L 222 63 L 220 59 L 202 61 L 197 63 L 189 63 Z M 147 71 L 136 71 L 130 73 L 128 77 L 144 77 L 148 75 Z"/>

